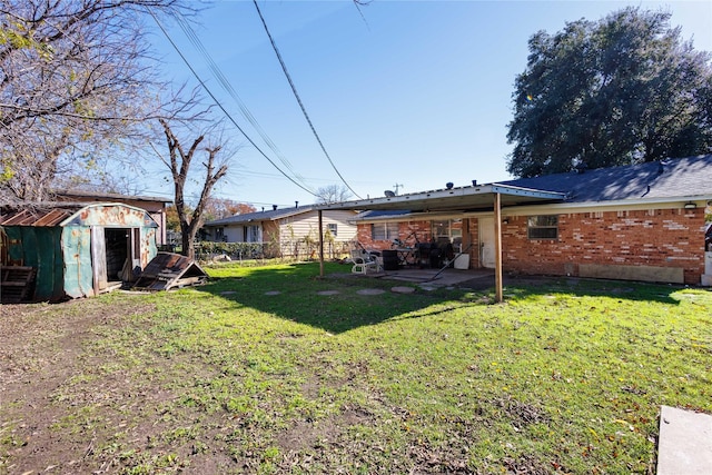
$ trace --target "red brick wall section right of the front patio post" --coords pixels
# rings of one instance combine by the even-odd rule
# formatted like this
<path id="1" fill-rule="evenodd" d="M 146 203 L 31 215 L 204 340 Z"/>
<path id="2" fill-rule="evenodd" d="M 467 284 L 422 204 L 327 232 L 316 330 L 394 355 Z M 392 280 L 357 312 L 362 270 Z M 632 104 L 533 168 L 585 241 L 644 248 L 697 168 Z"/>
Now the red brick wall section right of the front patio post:
<path id="1" fill-rule="evenodd" d="M 502 225 L 503 270 L 578 275 L 580 264 L 682 267 L 704 274 L 704 210 L 652 209 L 558 215 L 558 239 L 530 240 L 526 217 Z"/>

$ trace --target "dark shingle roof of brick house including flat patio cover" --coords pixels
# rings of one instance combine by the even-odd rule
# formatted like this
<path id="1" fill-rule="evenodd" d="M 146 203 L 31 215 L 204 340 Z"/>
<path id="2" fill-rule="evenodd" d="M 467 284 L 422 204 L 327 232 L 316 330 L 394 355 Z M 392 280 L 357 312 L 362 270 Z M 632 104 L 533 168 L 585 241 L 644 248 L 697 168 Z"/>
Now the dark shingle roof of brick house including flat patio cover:
<path id="1" fill-rule="evenodd" d="M 674 200 L 712 198 L 712 155 L 669 159 L 583 172 L 546 175 L 488 185 L 322 205 L 320 209 L 360 209 L 409 212 L 492 210 L 494 195 L 503 207 L 545 202 Z M 386 219 L 388 215 L 370 215 Z M 359 219 L 365 219 L 364 215 Z"/>

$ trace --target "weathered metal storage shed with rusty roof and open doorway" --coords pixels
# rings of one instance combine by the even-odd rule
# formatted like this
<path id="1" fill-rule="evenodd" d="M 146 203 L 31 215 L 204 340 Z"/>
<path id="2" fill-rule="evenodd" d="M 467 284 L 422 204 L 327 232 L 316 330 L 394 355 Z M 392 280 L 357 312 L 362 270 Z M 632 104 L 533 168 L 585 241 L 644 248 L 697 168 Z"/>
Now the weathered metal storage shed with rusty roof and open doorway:
<path id="1" fill-rule="evenodd" d="M 2 207 L 0 297 L 60 300 L 120 287 L 156 256 L 157 228 L 146 210 L 121 204 Z"/>

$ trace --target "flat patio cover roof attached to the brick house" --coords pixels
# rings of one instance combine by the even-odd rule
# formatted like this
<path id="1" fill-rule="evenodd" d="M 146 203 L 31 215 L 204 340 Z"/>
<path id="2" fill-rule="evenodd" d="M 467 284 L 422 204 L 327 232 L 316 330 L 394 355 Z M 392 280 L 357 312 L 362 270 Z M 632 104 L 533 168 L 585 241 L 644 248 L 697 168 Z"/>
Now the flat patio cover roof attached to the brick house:
<path id="1" fill-rule="evenodd" d="M 407 209 L 422 211 L 477 211 L 494 208 L 494 196 L 500 195 L 501 206 L 518 206 L 533 202 L 562 201 L 565 194 L 510 185 L 490 184 L 446 188 L 415 194 L 359 199 L 319 205 L 317 209 Z"/>

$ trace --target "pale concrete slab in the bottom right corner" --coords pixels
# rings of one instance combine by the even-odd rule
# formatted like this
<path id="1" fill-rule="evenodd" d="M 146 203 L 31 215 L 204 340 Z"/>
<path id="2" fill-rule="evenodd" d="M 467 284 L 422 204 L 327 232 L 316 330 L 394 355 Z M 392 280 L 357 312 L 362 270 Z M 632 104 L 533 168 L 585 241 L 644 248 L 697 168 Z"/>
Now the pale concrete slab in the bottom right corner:
<path id="1" fill-rule="evenodd" d="M 657 475 L 712 474 L 712 416 L 661 406 Z"/>

